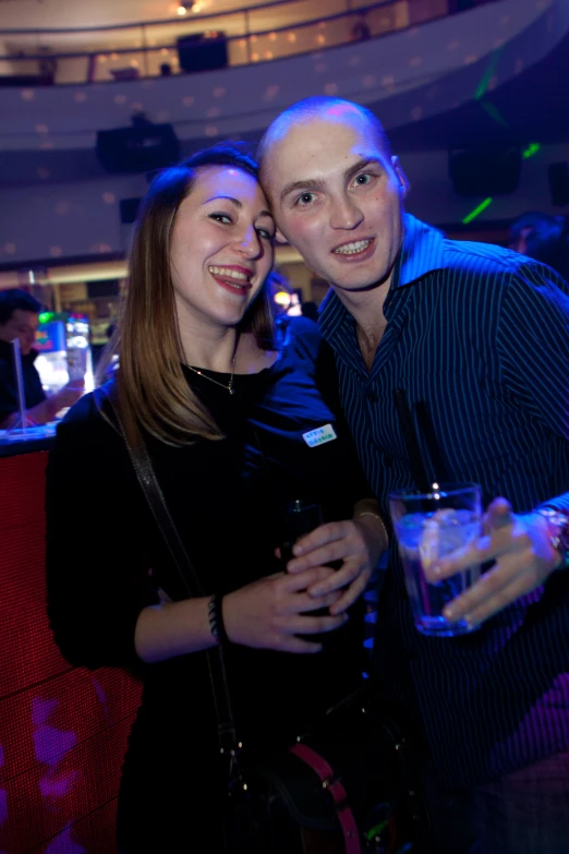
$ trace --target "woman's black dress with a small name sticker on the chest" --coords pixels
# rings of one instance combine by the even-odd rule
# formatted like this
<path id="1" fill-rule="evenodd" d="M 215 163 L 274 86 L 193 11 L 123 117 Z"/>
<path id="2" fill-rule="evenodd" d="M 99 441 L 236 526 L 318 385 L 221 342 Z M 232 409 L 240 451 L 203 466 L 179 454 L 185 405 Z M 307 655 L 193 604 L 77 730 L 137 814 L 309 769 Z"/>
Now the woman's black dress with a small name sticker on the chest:
<path id="1" fill-rule="evenodd" d="M 299 336 L 273 368 L 238 375 L 232 396 L 186 371 L 226 437 L 183 448 L 147 438 L 207 594 L 281 569 L 274 555 L 281 541 L 279 502 L 314 498 L 329 521 L 350 518 L 354 503 L 371 494 L 347 428 L 330 408 L 334 393 L 324 394 L 325 402 L 316 390 L 319 349 L 316 335 Z M 326 424 L 337 438 L 310 447 L 303 435 Z M 48 467 L 47 512 L 49 615 L 63 654 L 73 664 L 138 666 L 144 673 L 119 798 L 121 851 L 216 852 L 227 769 L 216 739 L 206 655 L 152 665 L 136 657 L 138 613 L 156 601 L 148 567 L 172 599 L 184 598 L 184 590 L 122 440 L 92 395 L 59 426 Z M 86 530 L 95 542 L 86 542 Z M 288 742 L 352 690 L 363 669 L 362 642 L 360 602 L 350 621 L 326 636 L 319 654 L 231 646 L 227 666 L 242 741 L 258 744 L 277 733 Z"/>

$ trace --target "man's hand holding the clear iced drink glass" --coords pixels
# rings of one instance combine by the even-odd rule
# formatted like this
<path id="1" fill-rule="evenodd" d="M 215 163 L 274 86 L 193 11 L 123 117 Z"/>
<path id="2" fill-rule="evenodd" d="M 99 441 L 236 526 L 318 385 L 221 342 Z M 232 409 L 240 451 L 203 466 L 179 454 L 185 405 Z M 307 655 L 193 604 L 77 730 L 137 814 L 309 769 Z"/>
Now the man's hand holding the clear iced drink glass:
<path id="1" fill-rule="evenodd" d="M 560 565 L 561 556 L 548 537 L 547 520 L 540 513 L 512 513 L 506 498 L 495 498 L 484 516 L 484 536 L 425 569 L 431 582 L 487 561 L 495 561 L 465 593 L 452 600 L 444 615 L 450 623 L 483 623 L 525 593 L 540 587 Z"/>

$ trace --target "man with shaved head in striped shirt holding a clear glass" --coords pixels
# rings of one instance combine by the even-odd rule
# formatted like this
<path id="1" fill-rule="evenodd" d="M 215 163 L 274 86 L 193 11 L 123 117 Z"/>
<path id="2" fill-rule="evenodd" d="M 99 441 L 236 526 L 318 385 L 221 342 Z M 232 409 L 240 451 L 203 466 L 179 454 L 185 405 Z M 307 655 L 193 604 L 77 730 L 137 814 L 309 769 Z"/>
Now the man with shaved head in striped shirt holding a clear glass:
<path id="1" fill-rule="evenodd" d="M 489 567 L 446 610 L 477 632 L 414 629 L 397 549 L 377 615 L 378 674 L 426 733 L 436 851 L 567 852 L 569 287 L 537 262 L 405 215 L 403 170 L 355 104 L 293 105 L 259 155 L 281 233 L 331 285 L 322 333 L 384 514 L 389 492 L 413 484 L 399 388 L 431 421 L 438 453 L 424 438 L 421 453 L 432 480 L 481 483 L 489 504 L 486 536 L 436 567 L 438 578 Z M 331 542 L 304 552 L 317 545 L 289 567 L 330 560 Z"/>

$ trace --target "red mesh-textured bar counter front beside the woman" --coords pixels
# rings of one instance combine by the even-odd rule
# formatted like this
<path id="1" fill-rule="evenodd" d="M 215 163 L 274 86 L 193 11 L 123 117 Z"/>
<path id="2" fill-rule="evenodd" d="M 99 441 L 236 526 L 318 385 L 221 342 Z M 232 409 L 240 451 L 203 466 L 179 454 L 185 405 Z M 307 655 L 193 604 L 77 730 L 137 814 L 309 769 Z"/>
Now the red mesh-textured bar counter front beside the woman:
<path id="1" fill-rule="evenodd" d="M 51 442 L 0 446 L 0 852 L 116 854 L 141 686 L 121 670 L 71 667 L 53 642 L 44 566 Z"/>

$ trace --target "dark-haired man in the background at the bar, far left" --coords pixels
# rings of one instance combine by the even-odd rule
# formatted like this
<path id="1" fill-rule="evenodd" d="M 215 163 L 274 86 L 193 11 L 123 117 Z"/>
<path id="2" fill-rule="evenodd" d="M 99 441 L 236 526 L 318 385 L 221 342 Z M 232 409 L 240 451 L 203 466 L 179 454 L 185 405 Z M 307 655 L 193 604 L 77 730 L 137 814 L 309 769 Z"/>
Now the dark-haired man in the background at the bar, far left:
<path id="1" fill-rule="evenodd" d="M 0 429 L 7 430 L 20 421 L 17 383 L 11 341 L 20 340 L 22 381 L 24 386 L 26 425 L 45 424 L 60 409 L 72 406 L 83 393 L 83 385 L 69 384 L 51 397 L 46 397 L 34 364 L 40 303 L 23 290 L 0 291 Z"/>

